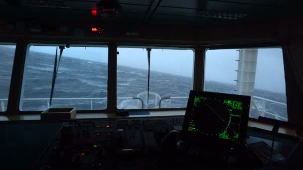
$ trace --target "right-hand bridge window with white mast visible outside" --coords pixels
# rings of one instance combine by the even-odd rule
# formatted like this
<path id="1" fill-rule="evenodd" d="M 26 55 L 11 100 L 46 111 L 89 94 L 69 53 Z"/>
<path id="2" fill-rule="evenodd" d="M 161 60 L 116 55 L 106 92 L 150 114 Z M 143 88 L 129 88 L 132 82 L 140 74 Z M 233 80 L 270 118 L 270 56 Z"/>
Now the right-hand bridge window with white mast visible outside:
<path id="1" fill-rule="evenodd" d="M 288 120 L 281 48 L 207 50 L 204 90 L 250 95 L 250 117 Z"/>

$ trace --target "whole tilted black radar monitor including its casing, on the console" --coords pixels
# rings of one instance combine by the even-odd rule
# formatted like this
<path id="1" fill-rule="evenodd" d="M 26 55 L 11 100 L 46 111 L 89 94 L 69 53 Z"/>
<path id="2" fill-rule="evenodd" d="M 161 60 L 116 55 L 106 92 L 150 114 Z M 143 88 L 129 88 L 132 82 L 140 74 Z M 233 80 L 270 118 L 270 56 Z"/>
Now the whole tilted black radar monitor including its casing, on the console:
<path id="1" fill-rule="evenodd" d="M 246 135 L 250 96 L 191 90 L 183 134 L 237 143 Z"/>

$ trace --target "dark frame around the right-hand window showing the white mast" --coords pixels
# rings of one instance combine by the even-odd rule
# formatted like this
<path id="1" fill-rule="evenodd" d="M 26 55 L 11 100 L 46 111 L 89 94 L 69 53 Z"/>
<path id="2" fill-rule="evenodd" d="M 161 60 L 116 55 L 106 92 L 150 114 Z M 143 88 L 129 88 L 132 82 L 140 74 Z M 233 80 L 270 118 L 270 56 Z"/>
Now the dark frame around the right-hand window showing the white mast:
<path id="1" fill-rule="evenodd" d="M 282 50 L 282 56 L 283 56 L 283 70 L 285 73 L 285 66 L 284 66 L 284 60 L 285 60 L 285 56 L 284 56 L 284 49 L 283 49 L 283 45 L 285 45 L 286 42 L 269 42 L 269 43 L 253 43 L 253 44 L 232 44 L 232 45 L 213 45 L 213 46 L 204 46 L 205 50 L 204 50 L 204 57 L 203 57 L 203 81 L 202 81 L 202 91 L 204 91 L 204 84 L 205 84 L 205 64 L 206 64 L 206 52 L 208 50 L 226 50 L 226 49 L 240 49 L 240 48 L 258 48 L 258 49 L 269 49 L 269 48 L 280 48 Z M 285 76 L 284 76 L 285 79 Z M 286 80 L 285 80 L 285 84 L 287 84 Z M 286 89 L 285 89 L 286 90 Z M 285 91 L 285 95 L 286 95 L 286 102 L 287 102 L 287 91 Z M 286 103 L 287 104 L 287 103 Z M 266 119 L 266 120 L 265 120 Z M 261 122 L 261 123 L 268 123 L 269 122 L 269 118 L 252 118 L 252 117 L 248 117 L 248 120 L 252 120 L 252 121 L 256 121 L 256 122 Z M 281 121 L 281 120 L 276 120 L 276 119 L 272 119 L 273 122 L 279 122 L 281 125 L 290 125 L 289 123 L 289 113 L 288 113 L 288 109 L 287 109 L 287 121 Z"/>

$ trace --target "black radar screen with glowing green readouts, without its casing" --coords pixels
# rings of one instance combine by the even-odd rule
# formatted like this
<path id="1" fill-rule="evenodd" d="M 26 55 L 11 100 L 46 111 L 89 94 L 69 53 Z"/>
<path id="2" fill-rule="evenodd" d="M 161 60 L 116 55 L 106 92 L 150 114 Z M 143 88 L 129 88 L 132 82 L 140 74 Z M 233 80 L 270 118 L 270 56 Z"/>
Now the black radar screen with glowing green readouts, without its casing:
<path id="1" fill-rule="evenodd" d="M 196 96 L 188 131 L 238 141 L 242 101 Z"/>

